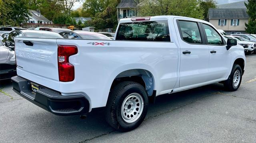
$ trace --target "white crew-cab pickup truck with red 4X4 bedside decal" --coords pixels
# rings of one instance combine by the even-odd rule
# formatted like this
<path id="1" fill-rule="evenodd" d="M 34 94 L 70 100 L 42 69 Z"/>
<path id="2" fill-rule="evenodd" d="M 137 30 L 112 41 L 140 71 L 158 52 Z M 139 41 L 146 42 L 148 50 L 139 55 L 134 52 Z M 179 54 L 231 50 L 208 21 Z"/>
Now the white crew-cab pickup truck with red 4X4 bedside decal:
<path id="1" fill-rule="evenodd" d="M 129 131 L 156 96 L 215 82 L 239 88 L 244 48 L 210 23 L 179 16 L 121 19 L 115 39 L 15 39 L 13 90 L 57 115 L 104 108 Z"/>

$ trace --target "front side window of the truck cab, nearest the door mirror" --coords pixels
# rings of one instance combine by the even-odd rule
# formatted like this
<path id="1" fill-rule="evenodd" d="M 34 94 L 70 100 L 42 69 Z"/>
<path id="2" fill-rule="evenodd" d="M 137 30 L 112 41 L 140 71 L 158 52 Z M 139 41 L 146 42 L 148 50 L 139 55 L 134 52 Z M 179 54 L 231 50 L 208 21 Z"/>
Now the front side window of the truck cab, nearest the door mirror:
<path id="1" fill-rule="evenodd" d="M 222 38 L 218 34 L 218 32 L 213 29 L 210 25 L 204 25 L 204 30 L 206 33 L 207 41 L 208 44 L 213 44 L 213 45 L 223 45 Z"/>

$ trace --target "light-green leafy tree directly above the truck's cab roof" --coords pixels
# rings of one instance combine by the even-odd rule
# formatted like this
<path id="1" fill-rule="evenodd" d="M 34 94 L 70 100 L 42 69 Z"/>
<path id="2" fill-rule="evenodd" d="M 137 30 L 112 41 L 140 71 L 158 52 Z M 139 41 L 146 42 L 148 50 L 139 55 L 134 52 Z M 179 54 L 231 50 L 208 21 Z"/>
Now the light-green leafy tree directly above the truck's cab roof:
<path id="1" fill-rule="evenodd" d="M 175 15 L 203 19 L 198 0 L 138 0 L 139 16 Z"/>

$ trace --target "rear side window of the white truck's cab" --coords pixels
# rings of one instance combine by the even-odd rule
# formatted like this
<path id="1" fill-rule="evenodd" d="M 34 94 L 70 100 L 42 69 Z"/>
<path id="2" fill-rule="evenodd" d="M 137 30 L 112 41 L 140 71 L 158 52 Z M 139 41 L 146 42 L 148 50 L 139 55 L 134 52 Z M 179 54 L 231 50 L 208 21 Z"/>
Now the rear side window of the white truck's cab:
<path id="1" fill-rule="evenodd" d="M 178 21 L 180 35 L 188 43 L 202 44 L 202 38 L 196 22 Z"/>

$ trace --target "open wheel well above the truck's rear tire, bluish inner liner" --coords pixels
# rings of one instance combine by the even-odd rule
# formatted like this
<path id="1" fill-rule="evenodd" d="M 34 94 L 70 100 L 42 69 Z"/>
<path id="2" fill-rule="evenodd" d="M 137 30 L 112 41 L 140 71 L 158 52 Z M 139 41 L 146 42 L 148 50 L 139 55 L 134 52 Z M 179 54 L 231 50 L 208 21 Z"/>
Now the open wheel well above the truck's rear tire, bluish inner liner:
<path id="1" fill-rule="evenodd" d="M 154 90 L 154 79 L 152 74 L 144 69 L 132 69 L 121 72 L 112 82 L 111 89 L 123 81 L 133 81 L 145 87 L 148 96 L 152 96 Z M 111 90 L 110 89 L 110 90 Z"/>

